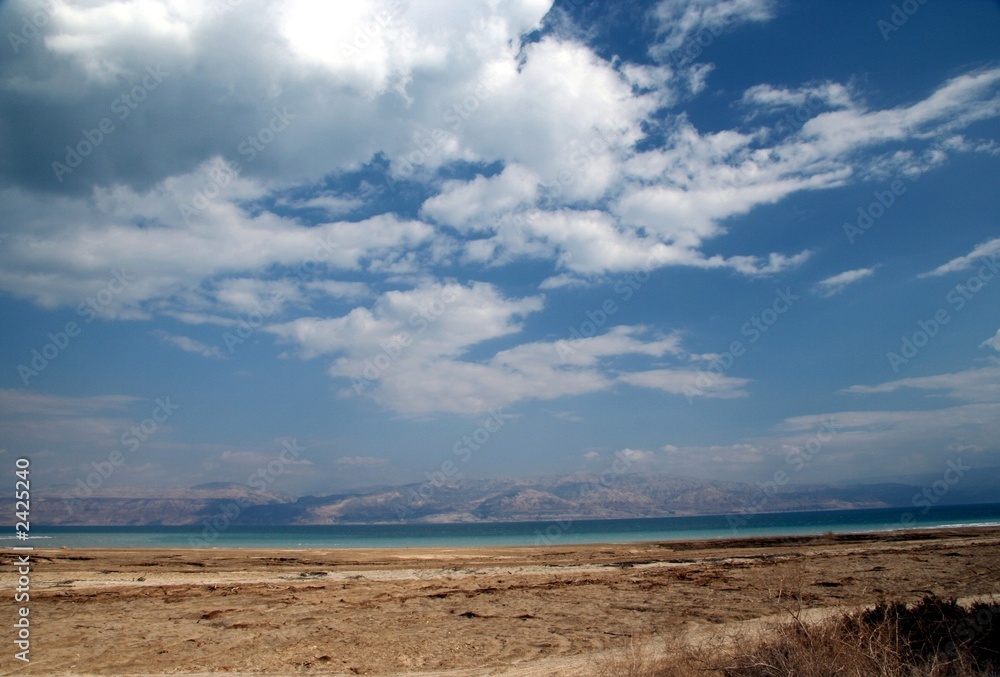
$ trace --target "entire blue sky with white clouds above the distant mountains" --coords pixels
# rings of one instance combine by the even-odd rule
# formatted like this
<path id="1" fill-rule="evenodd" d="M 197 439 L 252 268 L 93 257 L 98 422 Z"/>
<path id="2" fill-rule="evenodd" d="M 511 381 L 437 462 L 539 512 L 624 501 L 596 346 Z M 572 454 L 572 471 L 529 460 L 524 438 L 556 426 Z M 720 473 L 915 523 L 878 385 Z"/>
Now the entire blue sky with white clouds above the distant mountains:
<path id="1" fill-rule="evenodd" d="M 0 35 L 36 492 L 1000 464 L 998 2 L 8 0 Z"/>

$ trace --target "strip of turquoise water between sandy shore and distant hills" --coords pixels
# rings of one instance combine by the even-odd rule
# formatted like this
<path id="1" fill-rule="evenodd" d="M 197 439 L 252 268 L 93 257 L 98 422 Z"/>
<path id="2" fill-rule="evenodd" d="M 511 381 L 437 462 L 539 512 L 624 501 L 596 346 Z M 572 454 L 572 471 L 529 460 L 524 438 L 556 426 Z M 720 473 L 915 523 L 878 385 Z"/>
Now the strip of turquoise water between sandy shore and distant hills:
<path id="1" fill-rule="evenodd" d="M 211 527 L 35 527 L 32 538 L 0 537 L 0 546 L 70 548 L 415 548 L 570 545 L 800 536 L 940 526 L 1000 526 L 1000 504 L 917 509 L 709 515 L 625 520 L 487 524 L 375 524 Z M 8 532 L 10 533 L 10 532 Z"/>

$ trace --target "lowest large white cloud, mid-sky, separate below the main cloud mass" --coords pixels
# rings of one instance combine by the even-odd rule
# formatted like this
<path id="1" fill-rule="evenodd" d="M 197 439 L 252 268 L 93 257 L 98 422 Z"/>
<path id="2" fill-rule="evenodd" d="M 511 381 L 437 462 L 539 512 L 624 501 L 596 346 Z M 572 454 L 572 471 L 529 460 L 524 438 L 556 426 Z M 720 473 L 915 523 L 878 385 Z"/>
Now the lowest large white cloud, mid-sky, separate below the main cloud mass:
<path id="1" fill-rule="evenodd" d="M 369 309 L 336 318 L 300 318 L 265 331 L 297 346 L 303 359 L 330 356 L 329 373 L 350 379 L 342 394 L 364 395 L 406 416 L 479 413 L 527 399 L 551 400 L 616 384 L 703 397 L 743 394 L 742 379 L 722 378 L 685 391 L 699 375 L 686 366 L 616 367 L 622 356 L 686 362 L 677 334 L 614 327 L 600 336 L 521 343 L 470 357 L 485 341 L 518 334 L 519 318 L 542 309 L 540 297 L 507 299 L 492 285 L 428 284 L 388 292 Z"/>

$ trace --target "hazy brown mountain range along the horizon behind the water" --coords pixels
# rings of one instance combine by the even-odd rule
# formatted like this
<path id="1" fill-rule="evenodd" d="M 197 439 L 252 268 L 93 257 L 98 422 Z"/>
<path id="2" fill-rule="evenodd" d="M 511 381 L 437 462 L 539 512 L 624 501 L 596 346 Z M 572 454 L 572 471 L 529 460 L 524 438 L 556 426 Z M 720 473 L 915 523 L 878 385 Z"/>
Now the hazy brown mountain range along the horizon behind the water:
<path id="1" fill-rule="evenodd" d="M 941 503 L 1000 501 L 980 484 L 956 486 Z M 292 498 L 229 484 L 190 489 L 104 489 L 85 499 L 35 494 L 32 521 L 49 525 L 185 525 L 220 515 L 234 524 L 345 524 L 621 519 L 912 506 L 920 487 L 896 483 L 784 487 L 674 475 L 592 475 L 528 480 L 460 480 Z"/>

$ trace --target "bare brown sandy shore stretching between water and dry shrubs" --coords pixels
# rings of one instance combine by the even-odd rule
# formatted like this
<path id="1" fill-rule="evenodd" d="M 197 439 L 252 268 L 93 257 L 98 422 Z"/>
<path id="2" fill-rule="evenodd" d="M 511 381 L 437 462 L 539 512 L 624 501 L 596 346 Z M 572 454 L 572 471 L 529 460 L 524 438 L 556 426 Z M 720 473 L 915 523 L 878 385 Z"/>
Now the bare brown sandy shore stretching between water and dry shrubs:
<path id="1" fill-rule="evenodd" d="M 3 553 L 8 592 L 14 557 Z M 629 637 L 698 638 L 878 599 L 1000 594 L 1000 529 L 406 550 L 35 550 L 25 675 L 586 675 Z M 10 622 L 8 622 L 10 621 Z"/>

